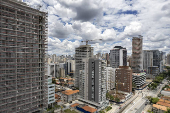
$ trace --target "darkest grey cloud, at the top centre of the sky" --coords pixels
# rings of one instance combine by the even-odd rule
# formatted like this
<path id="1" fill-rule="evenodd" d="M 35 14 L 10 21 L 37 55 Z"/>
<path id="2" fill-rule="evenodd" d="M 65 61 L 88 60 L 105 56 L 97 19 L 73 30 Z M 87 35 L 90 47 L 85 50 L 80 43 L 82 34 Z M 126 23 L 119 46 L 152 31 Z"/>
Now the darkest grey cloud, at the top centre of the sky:
<path id="1" fill-rule="evenodd" d="M 77 15 L 73 18 L 74 20 L 90 21 L 92 19 L 100 20 L 103 13 L 103 8 L 98 3 L 92 2 L 91 0 L 82 0 L 81 2 L 67 2 L 59 0 L 60 4 L 72 9 Z"/>

